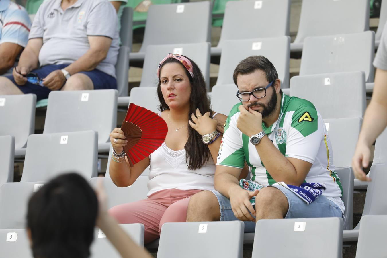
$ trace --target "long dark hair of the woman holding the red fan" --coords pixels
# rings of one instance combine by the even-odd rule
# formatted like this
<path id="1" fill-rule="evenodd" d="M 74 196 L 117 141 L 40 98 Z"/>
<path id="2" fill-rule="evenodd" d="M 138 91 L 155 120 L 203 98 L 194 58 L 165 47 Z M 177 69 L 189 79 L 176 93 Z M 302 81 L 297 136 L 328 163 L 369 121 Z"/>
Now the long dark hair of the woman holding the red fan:
<path id="1" fill-rule="evenodd" d="M 210 111 L 211 112 L 210 117 L 212 118 L 212 110 L 210 108 L 210 101 L 207 96 L 207 86 L 205 84 L 203 74 L 200 71 L 200 68 L 198 67 L 198 65 L 194 61 L 192 61 L 187 56 L 185 56 L 185 58 L 190 60 L 192 63 L 194 78 L 192 78 L 192 76 L 190 75 L 188 70 L 184 67 L 182 62 L 180 62 L 179 60 L 176 60 L 175 58 L 168 58 L 167 60 L 165 60 L 163 65 L 161 65 L 160 67 L 160 74 L 161 74 L 161 69 L 167 63 L 180 64 L 184 68 L 184 71 L 191 83 L 190 111 L 187 114 L 188 119 L 192 121 L 191 114 L 192 113 L 195 114 L 197 108 L 199 108 L 200 113 L 202 114 Z M 160 111 L 169 110 L 170 108 L 165 103 L 163 94 L 161 93 L 160 77 L 157 85 L 157 95 L 161 103 L 159 106 L 159 110 Z M 202 142 L 202 136 L 189 125 L 188 125 L 188 140 L 184 146 L 184 149 L 186 151 L 185 155 L 186 155 L 188 168 L 192 170 L 199 169 L 200 167 L 202 167 L 209 160 L 209 157 L 211 156 L 211 152 L 208 149 L 208 146 L 203 144 Z"/>

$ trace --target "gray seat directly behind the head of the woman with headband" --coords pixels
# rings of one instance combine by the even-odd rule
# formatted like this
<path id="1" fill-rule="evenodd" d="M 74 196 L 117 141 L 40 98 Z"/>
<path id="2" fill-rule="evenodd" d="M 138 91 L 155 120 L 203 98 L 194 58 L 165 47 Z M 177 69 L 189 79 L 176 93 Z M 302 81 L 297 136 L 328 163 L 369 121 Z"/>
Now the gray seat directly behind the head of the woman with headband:
<path id="1" fill-rule="evenodd" d="M 150 45 L 146 48 L 142 68 L 140 87 L 156 87 L 158 84 L 157 68 L 169 53 L 185 55 L 193 60 L 202 70 L 207 90 L 210 85 L 210 43 Z"/>

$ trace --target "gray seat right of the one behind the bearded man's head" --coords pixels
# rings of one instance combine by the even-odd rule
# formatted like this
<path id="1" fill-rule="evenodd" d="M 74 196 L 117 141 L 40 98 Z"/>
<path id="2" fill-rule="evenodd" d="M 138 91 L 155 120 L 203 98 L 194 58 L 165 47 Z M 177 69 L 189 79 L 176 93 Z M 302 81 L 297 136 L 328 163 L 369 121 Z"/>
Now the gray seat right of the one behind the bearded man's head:
<path id="1" fill-rule="evenodd" d="M 300 75 L 363 71 L 366 82 L 373 82 L 374 44 L 373 31 L 307 37 L 302 51 Z"/>

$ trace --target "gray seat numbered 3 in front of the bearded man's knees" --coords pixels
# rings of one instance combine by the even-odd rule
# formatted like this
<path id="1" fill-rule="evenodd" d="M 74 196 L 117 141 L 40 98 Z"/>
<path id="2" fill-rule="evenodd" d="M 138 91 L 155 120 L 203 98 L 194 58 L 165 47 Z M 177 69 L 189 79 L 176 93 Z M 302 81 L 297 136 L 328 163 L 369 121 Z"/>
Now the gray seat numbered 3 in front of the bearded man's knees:
<path id="1" fill-rule="evenodd" d="M 259 220 L 252 257 L 341 258 L 342 219 Z"/>

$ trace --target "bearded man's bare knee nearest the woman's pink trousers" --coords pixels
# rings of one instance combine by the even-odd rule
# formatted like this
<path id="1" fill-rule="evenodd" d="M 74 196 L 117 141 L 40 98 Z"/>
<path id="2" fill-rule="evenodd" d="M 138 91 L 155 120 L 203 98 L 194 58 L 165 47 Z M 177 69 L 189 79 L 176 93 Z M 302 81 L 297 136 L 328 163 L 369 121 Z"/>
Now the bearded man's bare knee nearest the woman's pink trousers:
<path id="1" fill-rule="evenodd" d="M 211 191 L 202 191 L 191 197 L 187 209 L 187 221 L 220 220 L 219 202 Z"/>

